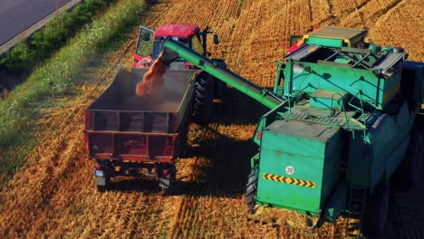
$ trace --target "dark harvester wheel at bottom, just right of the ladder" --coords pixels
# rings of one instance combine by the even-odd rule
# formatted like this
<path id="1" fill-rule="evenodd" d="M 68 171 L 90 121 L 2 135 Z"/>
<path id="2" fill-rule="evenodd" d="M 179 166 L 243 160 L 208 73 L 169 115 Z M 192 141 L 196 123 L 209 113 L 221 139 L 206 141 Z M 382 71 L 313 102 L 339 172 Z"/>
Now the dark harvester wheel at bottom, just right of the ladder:
<path id="1" fill-rule="evenodd" d="M 368 196 L 363 215 L 362 231 L 371 238 L 379 236 L 389 215 L 389 185 L 381 183 Z"/>

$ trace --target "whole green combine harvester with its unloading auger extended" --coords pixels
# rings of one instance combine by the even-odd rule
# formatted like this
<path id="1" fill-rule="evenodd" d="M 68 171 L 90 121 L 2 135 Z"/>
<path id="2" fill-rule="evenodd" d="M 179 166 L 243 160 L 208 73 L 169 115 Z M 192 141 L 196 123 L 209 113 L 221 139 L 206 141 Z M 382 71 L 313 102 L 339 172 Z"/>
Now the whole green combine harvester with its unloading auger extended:
<path id="1" fill-rule="evenodd" d="M 406 61 L 400 47 L 364 43 L 366 33 L 322 27 L 304 35 L 277 63 L 274 91 L 165 43 L 168 60 L 182 57 L 270 109 L 255 130 L 259 152 L 247 178 L 249 210 L 294 210 L 319 218 L 316 226 L 347 215 L 361 219 L 357 232 L 379 234 L 390 187 L 419 180 L 423 138 L 416 118 L 424 63 Z M 347 231 L 351 226 L 348 221 Z"/>

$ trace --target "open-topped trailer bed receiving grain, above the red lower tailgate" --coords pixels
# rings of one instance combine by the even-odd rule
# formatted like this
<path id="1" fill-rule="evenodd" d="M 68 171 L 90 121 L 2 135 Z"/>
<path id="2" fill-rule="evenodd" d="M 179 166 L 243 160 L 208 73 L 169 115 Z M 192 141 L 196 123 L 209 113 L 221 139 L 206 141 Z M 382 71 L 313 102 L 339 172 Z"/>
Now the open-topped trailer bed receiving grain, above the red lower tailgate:
<path id="1" fill-rule="evenodd" d="M 136 85 L 148 69 L 120 70 L 86 110 L 86 129 L 174 133 L 189 109 L 195 72 L 168 71 L 164 84 L 140 97 Z"/>

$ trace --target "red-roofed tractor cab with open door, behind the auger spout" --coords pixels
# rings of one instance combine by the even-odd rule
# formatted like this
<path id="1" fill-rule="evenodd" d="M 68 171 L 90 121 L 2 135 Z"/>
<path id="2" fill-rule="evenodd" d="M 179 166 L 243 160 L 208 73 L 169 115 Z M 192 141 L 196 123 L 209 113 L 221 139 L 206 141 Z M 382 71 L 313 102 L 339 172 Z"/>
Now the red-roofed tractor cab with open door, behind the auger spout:
<path id="1" fill-rule="evenodd" d="M 197 25 L 190 24 L 164 24 L 159 29 L 152 30 L 147 27 L 140 27 L 139 39 L 134 53 L 135 68 L 149 68 L 163 50 L 166 39 L 170 37 L 173 41 L 183 44 L 195 52 L 210 56 L 207 52 L 207 34 L 209 27 L 200 30 Z M 217 34 L 214 34 L 214 43 L 219 43 Z M 184 68 L 194 68 L 194 65 L 178 58 L 175 62 L 183 62 Z"/>

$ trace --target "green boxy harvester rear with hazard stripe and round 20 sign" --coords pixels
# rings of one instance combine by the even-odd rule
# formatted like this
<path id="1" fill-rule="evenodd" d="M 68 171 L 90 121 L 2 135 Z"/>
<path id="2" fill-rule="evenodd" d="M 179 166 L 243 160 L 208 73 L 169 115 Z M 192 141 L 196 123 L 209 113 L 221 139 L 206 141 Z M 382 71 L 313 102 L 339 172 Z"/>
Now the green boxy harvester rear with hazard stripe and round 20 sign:
<path id="1" fill-rule="evenodd" d="M 319 214 L 338 180 L 340 143 L 339 129 L 297 120 L 270 124 L 262 132 L 256 201 Z"/>

